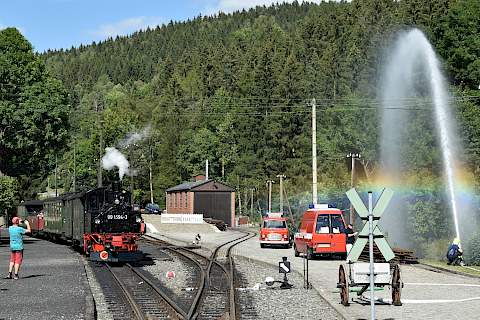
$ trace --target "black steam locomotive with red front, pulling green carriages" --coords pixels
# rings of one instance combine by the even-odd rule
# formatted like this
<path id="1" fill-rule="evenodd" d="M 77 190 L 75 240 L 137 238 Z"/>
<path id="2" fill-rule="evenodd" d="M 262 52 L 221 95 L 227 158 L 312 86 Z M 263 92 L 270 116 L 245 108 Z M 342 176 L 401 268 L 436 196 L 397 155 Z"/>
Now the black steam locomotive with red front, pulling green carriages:
<path id="1" fill-rule="evenodd" d="M 94 261 L 138 261 L 143 254 L 137 240 L 145 224 L 130 199 L 130 193 L 121 190 L 118 182 L 109 188 L 46 199 L 39 217 L 43 228 L 32 231 L 53 240 L 69 241 Z"/>

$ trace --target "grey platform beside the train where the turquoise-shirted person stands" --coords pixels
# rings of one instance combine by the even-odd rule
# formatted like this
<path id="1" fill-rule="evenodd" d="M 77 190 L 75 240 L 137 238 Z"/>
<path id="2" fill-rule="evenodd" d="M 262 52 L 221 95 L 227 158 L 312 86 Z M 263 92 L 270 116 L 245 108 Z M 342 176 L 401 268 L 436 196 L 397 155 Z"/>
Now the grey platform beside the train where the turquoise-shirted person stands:
<path id="1" fill-rule="evenodd" d="M 8 232 L 0 232 L 3 278 L 10 247 Z M 91 319 L 91 293 L 81 259 L 68 246 L 26 237 L 20 279 L 0 279 L 0 319 Z"/>

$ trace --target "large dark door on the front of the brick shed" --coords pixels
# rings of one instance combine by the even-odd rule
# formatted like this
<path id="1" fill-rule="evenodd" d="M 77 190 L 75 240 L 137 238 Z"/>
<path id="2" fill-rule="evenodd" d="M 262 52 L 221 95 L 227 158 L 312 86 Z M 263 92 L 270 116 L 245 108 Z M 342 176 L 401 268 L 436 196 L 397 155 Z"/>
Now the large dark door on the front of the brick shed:
<path id="1" fill-rule="evenodd" d="M 224 221 L 232 226 L 232 204 L 230 192 L 195 192 L 194 213 L 201 213 L 205 218 Z"/>

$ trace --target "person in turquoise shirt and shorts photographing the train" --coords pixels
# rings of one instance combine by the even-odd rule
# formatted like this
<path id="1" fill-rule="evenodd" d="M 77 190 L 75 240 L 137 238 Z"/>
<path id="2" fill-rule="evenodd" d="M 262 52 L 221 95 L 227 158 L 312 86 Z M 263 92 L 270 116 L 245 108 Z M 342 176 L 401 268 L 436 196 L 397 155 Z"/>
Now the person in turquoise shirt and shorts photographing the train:
<path id="1" fill-rule="evenodd" d="M 23 260 L 23 235 L 32 231 L 28 221 L 25 220 L 27 229 L 20 227 L 20 222 L 21 220 L 19 217 L 14 217 L 12 219 L 13 226 L 8 228 L 8 233 L 10 234 L 10 265 L 8 267 L 8 279 L 18 279 L 18 271 L 20 270 Z M 12 271 L 15 271 L 13 277 Z"/>

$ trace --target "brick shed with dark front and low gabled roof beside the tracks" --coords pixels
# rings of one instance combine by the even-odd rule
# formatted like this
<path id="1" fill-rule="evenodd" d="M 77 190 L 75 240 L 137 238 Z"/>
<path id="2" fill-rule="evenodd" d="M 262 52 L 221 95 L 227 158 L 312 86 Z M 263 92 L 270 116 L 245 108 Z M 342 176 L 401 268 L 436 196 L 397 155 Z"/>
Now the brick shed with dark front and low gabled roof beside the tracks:
<path id="1" fill-rule="evenodd" d="M 203 214 L 204 218 L 235 225 L 235 189 L 198 175 L 195 181 L 185 182 L 166 190 L 167 213 Z"/>

